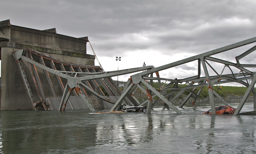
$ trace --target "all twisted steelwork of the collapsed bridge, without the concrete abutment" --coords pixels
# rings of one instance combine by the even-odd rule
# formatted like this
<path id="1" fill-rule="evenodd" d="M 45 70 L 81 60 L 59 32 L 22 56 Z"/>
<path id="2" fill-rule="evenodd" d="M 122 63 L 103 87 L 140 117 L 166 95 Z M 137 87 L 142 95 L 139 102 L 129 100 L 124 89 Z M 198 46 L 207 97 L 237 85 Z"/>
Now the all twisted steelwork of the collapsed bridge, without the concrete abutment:
<path id="1" fill-rule="evenodd" d="M 253 42 L 256 42 L 256 38 L 248 39 L 245 41 L 241 41 L 232 45 L 228 45 L 213 51 L 205 52 L 200 55 L 196 55 L 193 57 L 189 57 L 174 63 L 166 64 L 161 67 L 154 68 L 152 66 L 148 67 L 140 67 L 140 68 L 133 68 L 133 69 L 127 69 L 127 70 L 118 70 L 118 71 L 113 71 L 113 72 L 102 72 L 102 69 L 99 69 L 99 71 L 94 70 L 94 72 L 89 72 L 89 71 L 82 71 L 82 69 L 88 70 L 88 68 L 83 68 L 79 67 L 78 65 L 75 64 L 65 64 L 69 65 L 71 68 L 70 70 L 73 71 L 64 71 L 64 70 L 57 70 L 57 69 L 52 69 L 56 68 L 54 63 L 58 63 L 57 60 L 55 61 L 49 61 L 51 58 L 47 58 L 46 56 L 43 56 L 42 54 L 39 54 L 39 52 L 33 51 L 33 50 L 20 50 L 17 52 L 14 52 L 14 56 L 16 58 L 18 66 L 21 66 L 22 61 L 26 61 L 31 65 L 34 65 L 38 68 L 43 69 L 46 73 L 52 73 L 54 74 L 57 79 L 58 78 L 65 78 L 67 80 L 65 89 L 63 91 L 63 96 L 59 105 L 59 111 L 65 111 L 66 104 L 68 102 L 68 99 L 73 92 L 74 95 L 80 96 L 84 103 L 87 105 L 87 107 L 95 112 L 95 107 L 92 105 L 87 98 L 85 97 L 88 95 L 87 93 L 90 93 L 90 95 L 94 95 L 106 102 L 112 103 L 113 107 L 111 108 L 110 112 L 113 110 L 119 110 L 120 106 L 122 103 L 126 103 L 128 105 L 144 105 L 147 104 L 147 113 L 151 112 L 151 109 L 155 107 L 156 103 L 159 100 L 162 100 L 164 103 L 169 105 L 177 114 L 182 114 L 182 112 L 177 109 L 173 104 L 172 101 L 176 99 L 181 93 L 188 91 L 190 94 L 187 96 L 187 98 L 182 102 L 182 104 L 179 107 L 182 107 L 187 101 L 188 98 L 193 96 L 193 104 L 196 103 L 198 96 L 200 95 L 200 92 L 204 87 L 207 87 L 208 93 L 209 93 L 209 98 L 210 98 L 210 105 L 212 108 L 212 113 L 216 113 L 215 111 L 215 103 L 214 103 L 214 95 L 220 99 L 220 101 L 223 102 L 223 104 L 228 105 L 214 90 L 213 90 L 213 85 L 216 84 L 224 84 L 224 83 L 229 83 L 229 82 L 238 82 L 246 87 L 248 87 L 244 97 L 242 98 L 238 109 L 236 109 L 235 114 L 239 114 L 241 111 L 244 103 L 246 102 L 246 99 L 248 98 L 250 92 L 253 92 L 254 94 L 254 104 L 255 104 L 255 89 L 254 85 L 256 83 L 256 77 L 255 73 L 252 72 L 247 68 L 256 68 L 255 64 L 241 64 L 239 61 L 241 58 L 244 58 L 245 56 L 249 55 L 250 53 L 254 52 L 256 50 L 256 46 L 251 47 L 249 50 L 242 52 L 240 55 L 236 56 L 236 63 L 231 63 L 228 61 L 224 61 L 222 59 L 214 58 L 212 57 L 215 54 L 221 53 L 221 52 L 226 52 L 228 50 L 232 50 L 241 46 L 245 46 L 248 44 L 251 44 Z M 39 59 L 39 62 L 34 61 L 33 56 L 28 56 L 28 55 L 34 55 L 39 56 L 37 59 Z M 27 56 L 26 56 L 27 55 Z M 30 58 L 29 58 L 30 57 Z M 51 67 L 47 67 L 45 63 L 46 60 L 42 60 L 43 58 L 47 59 L 51 65 Z M 159 71 L 169 69 L 172 67 L 175 67 L 177 65 L 182 65 L 185 63 L 189 63 L 192 61 L 197 61 L 198 63 L 198 74 L 196 76 L 191 76 L 189 78 L 185 79 L 166 79 L 166 78 L 160 78 Z M 223 70 L 221 73 L 218 73 L 216 69 L 214 69 L 214 63 L 210 64 L 210 62 L 214 63 L 221 63 L 224 65 L 224 68 L 228 68 L 231 72 L 231 74 L 224 74 Z M 60 62 L 58 63 L 60 64 Z M 49 64 L 48 64 L 49 65 Z M 204 71 L 205 76 L 201 76 L 201 65 L 202 69 Z M 208 66 L 208 67 L 207 67 Z M 35 68 L 35 67 L 31 67 Z M 95 68 L 93 68 L 95 69 Z M 209 69 L 212 69 L 216 75 L 209 75 Z M 26 75 L 25 73 L 22 72 L 23 68 L 20 67 L 21 74 L 23 81 L 25 82 L 26 85 Z M 32 69 L 33 70 L 33 69 Z M 143 72 L 140 72 L 143 71 Z M 36 70 L 34 69 L 33 72 L 35 73 Z M 130 73 L 135 73 L 135 72 L 140 72 L 137 74 L 134 74 L 130 76 L 130 78 L 127 81 L 126 86 L 124 87 L 123 92 L 121 92 L 117 86 L 115 86 L 114 82 L 111 80 L 110 77 L 112 76 L 118 76 L 118 75 L 123 75 L 123 74 L 130 74 Z M 238 73 L 235 73 L 238 72 Z M 153 75 L 155 74 L 155 76 Z M 153 81 L 156 80 L 159 83 L 159 87 L 154 87 Z M 49 83 L 51 82 L 48 79 Z M 108 93 L 112 93 L 112 95 L 120 96 L 119 99 L 115 102 L 112 101 L 110 98 L 104 97 L 104 94 L 100 90 L 99 92 L 96 92 L 94 89 L 92 89 L 88 84 L 89 81 L 95 82 L 97 84 L 97 81 L 100 82 L 101 85 L 103 85 L 103 88 L 108 91 Z M 161 81 L 168 81 L 168 84 L 165 84 L 164 86 L 161 84 Z M 35 82 L 38 83 L 40 82 L 37 80 Z M 185 83 L 185 86 L 181 86 L 179 84 Z M 142 86 L 144 84 L 145 86 Z M 51 84 L 49 84 L 51 85 Z M 62 86 L 63 84 L 60 84 Z M 29 87 L 29 85 L 26 85 L 26 87 Z M 195 93 L 194 90 L 199 87 L 200 90 L 198 93 Z M 52 88 L 51 88 L 52 89 Z M 133 93 L 136 92 L 138 89 L 140 89 L 147 97 L 143 102 L 139 102 L 135 97 L 133 97 Z M 169 92 L 166 93 L 166 91 L 169 90 Z M 40 90 L 39 90 L 40 91 Z M 54 90 L 53 90 L 54 91 Z M 27 88 L 28 94 L 30 93 L 30 89 Z M 165 92 L 165 94 L 164 94 Z M 178 92 L 178 93 L 176 93 Z M 54 92 L 53 92 L 54 93 Z M 174 95 L 176 93 L 176 95 Z M 40 93 L 43 95 L 42 93 Z M 158 100 L 155 101 L 154 103 L 152 102 L 152 98 L 155 96 L 158 97 Z M 32 96 L 30 96 L 32 98 Z M 43 100 L 43 99 L 42 99 Z M 34 109 L 36 109 L 37 103 L 35 103 L 31 99 L 31 103 L 33 104 Z M 43 102 L 40 102 L 43 103 Z"/>

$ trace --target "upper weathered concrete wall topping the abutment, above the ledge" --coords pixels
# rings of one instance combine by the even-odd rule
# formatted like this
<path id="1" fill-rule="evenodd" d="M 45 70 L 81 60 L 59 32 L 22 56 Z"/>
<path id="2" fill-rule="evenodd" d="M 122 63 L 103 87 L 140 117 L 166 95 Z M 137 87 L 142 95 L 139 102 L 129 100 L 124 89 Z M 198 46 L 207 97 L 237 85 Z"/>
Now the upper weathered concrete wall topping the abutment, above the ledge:
<path id="1" fill-rule="evenodd" d="M 5 33 L 5 36 L 7 36 L 7 39 L 12 43 L 22 44 L 28 47 L 33 46 L 86 54 L 86 42 L 88 40 L 85 39 L 11 25 L 9 20 L 2 21 L 0 27 Z M 6 37 L 1 35 L 1 38 Z"/>

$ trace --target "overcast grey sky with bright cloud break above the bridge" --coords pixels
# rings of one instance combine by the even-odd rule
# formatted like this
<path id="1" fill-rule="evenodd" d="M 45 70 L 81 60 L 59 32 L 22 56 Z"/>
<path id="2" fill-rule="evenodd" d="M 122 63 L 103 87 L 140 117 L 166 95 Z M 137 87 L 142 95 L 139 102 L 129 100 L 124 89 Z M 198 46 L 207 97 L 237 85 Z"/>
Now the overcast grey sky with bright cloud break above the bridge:
<path id="1" fill-rule="evenodd" d="M 0 21 L 6 19 L 12 25 L 88 36 L 103 69 L 111 71 L 144 62 L 159 67 L 253 38 L 256 0 L 0 0 Z M 89 44 L 87 53 L 93 55 Z M 221 58 L 234 61 L 238 55 Z M 256 64 L 256 52 L 247 60 Z M 190 72 L 194 69 L 185 65 L 160 77 L 184 78 L 197 73 Z"/>

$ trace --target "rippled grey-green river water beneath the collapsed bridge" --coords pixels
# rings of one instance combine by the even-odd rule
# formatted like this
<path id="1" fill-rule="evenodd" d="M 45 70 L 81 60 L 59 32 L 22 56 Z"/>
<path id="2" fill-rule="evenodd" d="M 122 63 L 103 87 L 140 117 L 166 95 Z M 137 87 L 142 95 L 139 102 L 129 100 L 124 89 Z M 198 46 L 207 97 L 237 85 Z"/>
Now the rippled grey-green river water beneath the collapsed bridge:
<path id="1" fill-rule="evenodd" d="M 206 110 L 1 111 L 0 153 L 256 153 L 256 116 L 202 115 Z"/>

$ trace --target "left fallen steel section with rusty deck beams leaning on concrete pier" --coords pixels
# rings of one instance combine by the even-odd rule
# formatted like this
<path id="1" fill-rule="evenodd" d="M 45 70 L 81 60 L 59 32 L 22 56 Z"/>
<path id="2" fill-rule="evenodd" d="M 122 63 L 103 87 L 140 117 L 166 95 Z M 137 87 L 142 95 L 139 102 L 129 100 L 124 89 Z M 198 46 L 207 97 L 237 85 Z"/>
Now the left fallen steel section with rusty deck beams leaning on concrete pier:
<path id="1" fill-rule="evenodd" d="M 105 94 L 100 89 L 98 83 L 103 86 L 109 96 L 120 96 L 122 92 L 116 86 L 116 84 L 114 84 L 111 77 L 140 72 L 153 68 L 152 66 L 147 66 L 112 72 L 102 72 L 102 68 L 99 66 L 67 63 L 31 49 L 19 50 L 17 52 L 14 52 L 13 56 L 15 57 L 18 64 L 23 82 L 25 84 L 28 96 L 30 98 L 30 102 L 34 110 L 38 110 L 41 105 L 43 105 L 45 110 L 51 109 L 51 104 L 45 94 L 45 89 L 47 87 L 46 85 L 42 84 L 41 78 L 43 78 L 43 76 L 38 74 L 38 69 L 43 70 L 44 76 L 46 77 L 46 81 L 48 82 L 48 86 L 53 97 L 56 97 L 58 95 L 58 89 L 62 91 L 62 99 L 59 105 L 59 111 L 65 111 L 66 103 L 69 101 L 70 95 L 74 95 L 80 96 L 87 105 L 87 107 L 92 112 L 95 112 L 95 105 L 91 104 L 87 100 L 86 95 L 94 95 L 98 99 L 102 99 L 106 102 L 112 104 L 116 103 L 105 96 Z M 34 85 L 40 98 L 40 101 L 38 102 L 35 102 L 32 99 L 33 96 L 31 93 L 31 89 L 28 85 L 28 81 L 26 80 L 26 73 L 23 69 L 23 67 L 26 67 L 26 65 L 22 65 L 21 62 L 28 63 L 28 70 L 30 70 L 30 74 L 33 78 Z M 53 74 L 53 76 L 55 76 L 58 83 L 57 85 L 53 85 L 53 79 L 51 78 L 50 74 Z M 64 85 L 66 86 L 64 87 Z M 133 102 L 136 102 L 132 96 L 127 96 L 126 98 L 124 98 L 124 100 L 127 102 L 127 104 L 133 104 Z M 48 105 L 45 105 L 46 102 Z"/>

